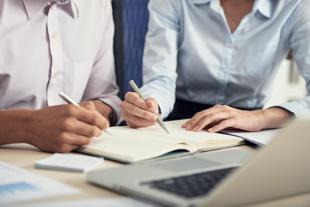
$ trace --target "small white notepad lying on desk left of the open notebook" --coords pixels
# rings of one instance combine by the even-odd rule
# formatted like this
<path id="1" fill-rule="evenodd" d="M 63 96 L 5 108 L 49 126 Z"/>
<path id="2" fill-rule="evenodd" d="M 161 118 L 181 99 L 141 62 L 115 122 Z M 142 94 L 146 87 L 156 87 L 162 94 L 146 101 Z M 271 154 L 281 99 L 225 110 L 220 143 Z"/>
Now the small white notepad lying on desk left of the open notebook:
<path id="1" fill-rule="evenodd" d="M 37 160 L 36 168 L 88 172 L 103 162 L 103 157 L 55 153 Z"/>

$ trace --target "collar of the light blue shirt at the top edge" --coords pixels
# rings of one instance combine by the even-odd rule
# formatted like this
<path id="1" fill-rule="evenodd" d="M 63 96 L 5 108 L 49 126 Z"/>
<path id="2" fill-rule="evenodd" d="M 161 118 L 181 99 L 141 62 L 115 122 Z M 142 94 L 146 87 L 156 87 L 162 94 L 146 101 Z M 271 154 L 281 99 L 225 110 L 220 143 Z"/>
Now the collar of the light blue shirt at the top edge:
<path id="1" fill-rule="evenodd" d="M 270 18 L 274 9 L 272 0 L 256 0 L 254 9 L 257 9 L 262 15 Z M 210 7 L 214 7 L 219 4 L 219 0 L 193 0 L 194 4 L 204 4 L 210 2 Z"/>

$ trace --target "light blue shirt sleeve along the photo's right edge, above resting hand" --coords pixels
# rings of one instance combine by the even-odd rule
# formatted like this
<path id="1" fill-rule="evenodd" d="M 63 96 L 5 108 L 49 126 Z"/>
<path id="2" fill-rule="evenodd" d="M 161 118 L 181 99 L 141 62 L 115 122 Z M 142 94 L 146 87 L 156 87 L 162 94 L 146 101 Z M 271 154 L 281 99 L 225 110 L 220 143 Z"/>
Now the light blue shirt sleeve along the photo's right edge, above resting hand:
<path id="1" fill-rule="evenodd" d="M 293 59 L 296 61 L 299 73 L 306 80 L 308 95 L 305 98 L 276 105 L 293 112 L 296 117 L 310 115 L 310 13 L 308 8 L 310 8 L 310 1 L 303 0 L 292 13 L 286 28 L 290 31 L 289 43 L 293 49 Z"/>

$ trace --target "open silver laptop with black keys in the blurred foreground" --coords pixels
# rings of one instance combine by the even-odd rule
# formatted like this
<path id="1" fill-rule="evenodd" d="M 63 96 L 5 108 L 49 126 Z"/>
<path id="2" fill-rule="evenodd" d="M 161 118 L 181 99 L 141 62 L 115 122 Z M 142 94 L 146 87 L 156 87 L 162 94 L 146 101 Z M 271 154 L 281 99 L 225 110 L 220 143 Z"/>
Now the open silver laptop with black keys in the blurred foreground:
<path id="1" fill-rule="evenodd" d="M 239 207 L 310 192 L 309 160 L 310 119 L 303 119 L 253 153 L 224 149 L 123 165 L 88 172 L 87 180 L 159 206 Z"/>

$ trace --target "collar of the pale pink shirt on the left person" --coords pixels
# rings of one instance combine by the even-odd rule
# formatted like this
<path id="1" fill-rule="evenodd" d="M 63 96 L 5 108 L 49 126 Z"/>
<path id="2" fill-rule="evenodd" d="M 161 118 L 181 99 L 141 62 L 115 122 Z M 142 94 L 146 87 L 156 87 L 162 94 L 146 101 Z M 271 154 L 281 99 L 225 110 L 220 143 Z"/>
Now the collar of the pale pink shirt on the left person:
<path id="1" fill-rule="evenodd" d="M 50 0 L 23 0 L 28 19 L 31 20 Z M 65 4 L 65 6 L 67 6 Z M 64 9 L 72 18 L 78 18 L 78 6 L 74 0 L 68 3 L 70 9 Z"/>

